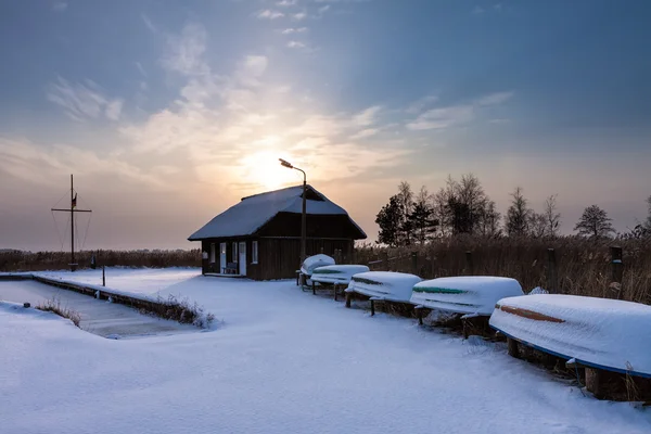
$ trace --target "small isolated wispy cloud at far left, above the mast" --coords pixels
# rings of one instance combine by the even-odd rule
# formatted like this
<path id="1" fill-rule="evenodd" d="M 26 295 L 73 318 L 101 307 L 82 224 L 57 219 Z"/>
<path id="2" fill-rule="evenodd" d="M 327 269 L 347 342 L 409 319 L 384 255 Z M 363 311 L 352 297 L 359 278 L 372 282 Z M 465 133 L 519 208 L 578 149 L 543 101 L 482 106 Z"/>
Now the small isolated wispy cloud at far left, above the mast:
<path id="1" fill-rule="evenodd" d="M 92 80 L 73 85 L 59 77 L 56 82 L 48 87 L 47 98 L 63 107 L 66 116 L 78 122 L 98 119 L 102 114 L 111 120 L 117 120 L 123 106 L 123 100 L 106 98 L 103 89 Z"/>

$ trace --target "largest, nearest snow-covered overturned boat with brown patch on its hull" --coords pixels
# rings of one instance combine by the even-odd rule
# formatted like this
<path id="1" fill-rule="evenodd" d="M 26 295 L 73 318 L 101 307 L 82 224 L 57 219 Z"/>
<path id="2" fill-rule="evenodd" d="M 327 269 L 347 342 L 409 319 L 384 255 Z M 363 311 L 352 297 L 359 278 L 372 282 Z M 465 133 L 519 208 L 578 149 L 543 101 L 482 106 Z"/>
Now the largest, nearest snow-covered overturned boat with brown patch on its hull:
<path id="1" fill-rule="evenodd" d="M 651 306 L 540 294 L 500 299 L 490 327 L 522 344 L 577 363 L 651 378 Z"/>

